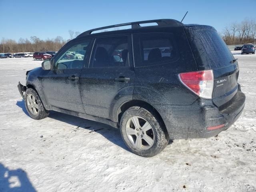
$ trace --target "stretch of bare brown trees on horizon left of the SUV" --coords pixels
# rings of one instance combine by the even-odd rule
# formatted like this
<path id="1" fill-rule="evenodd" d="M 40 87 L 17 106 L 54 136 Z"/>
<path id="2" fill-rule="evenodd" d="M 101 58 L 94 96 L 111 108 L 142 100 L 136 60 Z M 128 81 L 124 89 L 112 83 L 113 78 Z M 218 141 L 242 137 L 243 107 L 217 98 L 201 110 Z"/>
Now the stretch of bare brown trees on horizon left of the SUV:
<path id="1" fill-rule="evenodd" d="M 56 38 L 41 40 L 37 36 L 31 36 L 30 39 L 20 38 L 17 41 L 2 38 L 0 40 L 0 53 L 18 53 L 18 52 L 44 52 L 58 51 L 60 48 L 73 38 L 76 38 L 80 32 L 68 30 L 70 39 L 64 40 L 61 36 Z"/>

